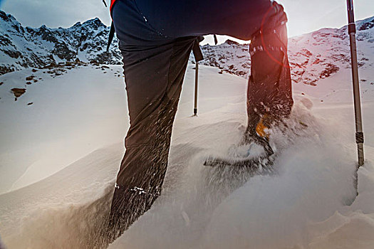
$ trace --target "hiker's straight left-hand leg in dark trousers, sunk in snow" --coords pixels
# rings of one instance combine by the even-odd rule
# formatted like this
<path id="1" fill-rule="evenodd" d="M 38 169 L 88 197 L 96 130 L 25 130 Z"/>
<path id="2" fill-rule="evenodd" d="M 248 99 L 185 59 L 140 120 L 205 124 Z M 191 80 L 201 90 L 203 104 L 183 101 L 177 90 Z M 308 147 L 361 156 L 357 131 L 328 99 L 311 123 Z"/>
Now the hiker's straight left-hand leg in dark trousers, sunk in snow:
<path id="1" fill-rule="evenodd" d="M 165 39 L 118 1 L 113 21 L 123 55 L 130 129 L 110 211 L 114 240 L 160 195 L 167 169 L 172 124 L 195 37 Z"/>

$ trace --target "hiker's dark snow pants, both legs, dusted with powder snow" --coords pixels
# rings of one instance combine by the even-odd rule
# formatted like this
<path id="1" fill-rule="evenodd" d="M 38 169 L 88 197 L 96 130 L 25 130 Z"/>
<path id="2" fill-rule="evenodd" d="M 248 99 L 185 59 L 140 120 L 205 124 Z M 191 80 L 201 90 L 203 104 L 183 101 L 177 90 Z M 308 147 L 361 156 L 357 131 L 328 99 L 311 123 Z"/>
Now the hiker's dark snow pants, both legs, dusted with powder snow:
<path id="1" fill-rule="evenodd" d="M 275 2 L 118 0 L 112 14 L 130 115 L 110 213 L 116 238 L 160 195 L 182 82 L 199 36 L 251 39 L 248 132 L 266 113 L 286 117 L 293 102 L 286 14 Z"/>

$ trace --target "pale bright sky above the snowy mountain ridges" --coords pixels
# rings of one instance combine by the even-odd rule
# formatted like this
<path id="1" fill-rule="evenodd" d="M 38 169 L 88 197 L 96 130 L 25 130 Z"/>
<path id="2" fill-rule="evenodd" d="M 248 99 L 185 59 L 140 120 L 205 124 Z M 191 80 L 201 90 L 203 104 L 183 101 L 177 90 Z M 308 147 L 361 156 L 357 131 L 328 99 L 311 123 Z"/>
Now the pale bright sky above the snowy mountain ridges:
<path id="1" fill-rule="evenodd" d="M 110 0 L 106 1 L 109 4 Z M 289 17 L 290 37 L 319 28 L 340 28 L 347 23 L 346 0 L 279 0 L 279 3 Z M 374 0 L 353 0 L 353 3 L 356 20 L 374 16 Z M 15 16 L 24 26 L 45 24 L 67 28 L 95 17 L 110 25 L 109 11 L 102 0 L 0 0 L 0 9 Z M 226 39 L 219 37 L 220 42 Z M 207 42 L 212 43 L 212 38 L 208 37 Z"/>

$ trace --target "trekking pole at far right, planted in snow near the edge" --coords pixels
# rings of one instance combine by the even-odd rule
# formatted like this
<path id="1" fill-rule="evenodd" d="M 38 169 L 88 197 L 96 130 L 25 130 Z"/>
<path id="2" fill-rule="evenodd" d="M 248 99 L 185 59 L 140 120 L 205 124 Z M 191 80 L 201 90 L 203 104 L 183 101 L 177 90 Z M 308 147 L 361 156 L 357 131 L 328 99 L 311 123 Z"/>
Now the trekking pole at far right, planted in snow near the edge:
<path id="1" fill-rule="evenodd" d="M 355 102 L 355 142 L 358 149 L 358 166 L 363 165 L 363 122 L 361 117 L 360 85 L 358 84 L 357 48 L 355 40 L 355 17 L 353 13 L 353 0 L 347 0 L 348 8 L 348 34 L 350 40 L 350 61 L 352 64 L 353 98 Z M 355 188 L 358 191 L 358 172 L 355 175 Z M 358 194 L 358 192 L 357 192 Z"/>

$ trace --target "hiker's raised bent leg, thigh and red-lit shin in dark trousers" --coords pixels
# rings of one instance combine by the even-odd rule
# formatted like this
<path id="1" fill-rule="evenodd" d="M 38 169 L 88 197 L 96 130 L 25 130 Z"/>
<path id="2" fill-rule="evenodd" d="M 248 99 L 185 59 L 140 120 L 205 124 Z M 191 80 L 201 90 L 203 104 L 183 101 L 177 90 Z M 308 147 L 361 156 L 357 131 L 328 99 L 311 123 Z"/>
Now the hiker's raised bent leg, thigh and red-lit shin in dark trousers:
<path id="1" fill-rule="evenodd" d="M 287 17 L 276 1 L 135 0 L 137 9 L 162 36 L 200 36 L 209 33 L 251 40 L 246 136 L 256 134 L 262 117 L 288 117 L 293 105 L 287 56 Z"/>

